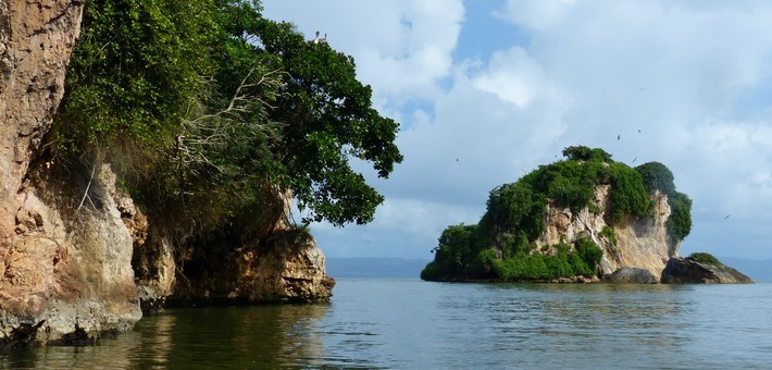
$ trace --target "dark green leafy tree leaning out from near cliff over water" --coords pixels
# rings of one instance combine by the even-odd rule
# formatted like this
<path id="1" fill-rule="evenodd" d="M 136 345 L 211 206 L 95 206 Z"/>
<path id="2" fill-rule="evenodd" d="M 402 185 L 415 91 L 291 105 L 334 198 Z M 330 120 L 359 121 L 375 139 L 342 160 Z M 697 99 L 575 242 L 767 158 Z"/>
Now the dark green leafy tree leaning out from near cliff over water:
<path id="1" fill-rule="evenodd" d="M 261 20 L 254 33 L 288 75 L 271 118 L 285 123 L 278 156 L 283 181 L 309 220 L 366 223 L 383 197 L 365 184 L 350 159 L 372 162 L 388 177 L 402 161 L 394 144 L 399 125 L 372 108 L 370 86 L 356 78 L 351 57 L 304 40 L 290 24 Z"/>

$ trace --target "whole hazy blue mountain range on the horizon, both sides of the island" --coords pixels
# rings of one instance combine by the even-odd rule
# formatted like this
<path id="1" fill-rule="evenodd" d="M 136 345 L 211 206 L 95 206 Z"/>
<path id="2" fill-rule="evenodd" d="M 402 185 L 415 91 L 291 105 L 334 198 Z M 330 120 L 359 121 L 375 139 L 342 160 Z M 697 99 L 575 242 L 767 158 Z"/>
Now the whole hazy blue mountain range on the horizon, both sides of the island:
<path id="1" fill-rule="evenodd" d="M 721 257 L 721 262 L 748 275 L 755 282 L 772 282 L 772 259 L 752 260 Z M 327 258 L 327 274 L 332 278 L 413 278 L 429 260 L 404 258 Z"/>

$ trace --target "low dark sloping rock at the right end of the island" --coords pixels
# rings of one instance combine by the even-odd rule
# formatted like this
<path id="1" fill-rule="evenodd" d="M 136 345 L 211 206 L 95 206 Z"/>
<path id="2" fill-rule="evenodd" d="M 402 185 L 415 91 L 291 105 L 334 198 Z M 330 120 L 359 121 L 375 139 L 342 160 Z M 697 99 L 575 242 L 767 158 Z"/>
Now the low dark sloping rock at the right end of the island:
<path id="1" fill-rule="evenodd" d="M 690 258 L 674 257 L 662 271 L 662 283 L 748 284 L 750 278 L 725 264 L 701 263 Z"/>

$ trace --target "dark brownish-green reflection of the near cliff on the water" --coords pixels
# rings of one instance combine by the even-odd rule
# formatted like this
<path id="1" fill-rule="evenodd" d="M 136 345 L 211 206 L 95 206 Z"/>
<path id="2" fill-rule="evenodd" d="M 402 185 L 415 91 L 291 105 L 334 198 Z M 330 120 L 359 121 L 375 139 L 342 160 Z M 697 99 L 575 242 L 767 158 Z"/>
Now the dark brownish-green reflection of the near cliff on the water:
<path id="1" fill-rule="evenodd" d="M 172 309 L 96 346 L 0 353 L 0 368 L 265 368 L 319 363 L 328 305 Z"/>

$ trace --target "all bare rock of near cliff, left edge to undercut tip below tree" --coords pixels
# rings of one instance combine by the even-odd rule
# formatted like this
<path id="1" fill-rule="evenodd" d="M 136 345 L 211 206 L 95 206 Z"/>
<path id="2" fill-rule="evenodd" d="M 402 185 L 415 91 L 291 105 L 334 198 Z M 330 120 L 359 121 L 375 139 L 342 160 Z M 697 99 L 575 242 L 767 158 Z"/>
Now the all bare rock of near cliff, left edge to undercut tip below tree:
<path id="1" fill-rule="evenodd" d="M 0 346 L 125 331 L 140 301 L 158 307 L 175 293 L 327 299 L 334 281 L 313 239 L 286 226 L 288 198 L 266 219 L 270 232 L 207 245 L 153 224 L 99 152 L 66 165 L 43 159 L 82 13 L 80 0 L 0 0 Z M 222 258 L 215 245 L 227 246 Z M 222 264 L 189 279 L 201 261 Z"/>

